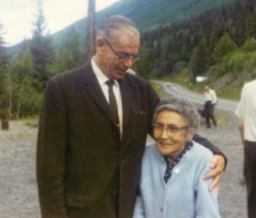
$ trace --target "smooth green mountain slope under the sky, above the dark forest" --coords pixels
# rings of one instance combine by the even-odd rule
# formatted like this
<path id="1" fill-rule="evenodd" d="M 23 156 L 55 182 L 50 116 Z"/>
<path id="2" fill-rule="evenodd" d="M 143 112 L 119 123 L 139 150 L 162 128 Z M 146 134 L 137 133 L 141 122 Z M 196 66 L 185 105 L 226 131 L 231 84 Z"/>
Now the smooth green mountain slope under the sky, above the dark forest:
<path id="1" fill-rule="evenodd" d="M 227 4 L 233 0 L 122 0 L 96 13 L 96 23 L 109 15 L 124 15 L 131 18 L 142 31 L 156 29 L 159 26 L 169 26 L 173 23 L 186 21 L 191 16 Z M 67 26 L 65 29 L 52 35 L 53 46 L 58 47 L 65 34 L 72 28 L 80 35 L 80 45 L 85 45 L 86 18 Z M 13 56 L 21 48 L 15 45 L 8 48 Z"/>

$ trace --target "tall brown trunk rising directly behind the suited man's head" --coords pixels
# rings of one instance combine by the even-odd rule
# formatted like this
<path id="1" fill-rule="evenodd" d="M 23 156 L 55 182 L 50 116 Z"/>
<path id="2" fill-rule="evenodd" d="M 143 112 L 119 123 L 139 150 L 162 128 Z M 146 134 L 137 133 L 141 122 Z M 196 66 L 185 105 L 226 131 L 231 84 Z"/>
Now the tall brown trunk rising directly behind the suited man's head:
<path id="1" fill-rule="evenodd" d="M 88 15 L 86 24 L 85 62 L 95 53 L 95 0 L 88 0 Z"/>

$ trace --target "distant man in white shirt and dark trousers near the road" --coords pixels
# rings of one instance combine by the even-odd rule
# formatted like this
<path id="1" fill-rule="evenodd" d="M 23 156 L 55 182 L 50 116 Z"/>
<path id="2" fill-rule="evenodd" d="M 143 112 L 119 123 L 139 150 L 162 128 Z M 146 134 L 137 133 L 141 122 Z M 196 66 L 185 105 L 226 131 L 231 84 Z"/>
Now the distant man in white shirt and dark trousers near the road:
<path id="1" fill-rule="evenodd" d="M 213 125 L 215 127 L 217 125 L 213 115 L 214 105 L 217 102 L 215 91 L 206 86 L 204 87 L 204 96 L 206 97 L 206 103 L 204 104 L 204 110 L 206 112 L 206 127 L 211 128 L 210 119 L 213 121 Z"/>

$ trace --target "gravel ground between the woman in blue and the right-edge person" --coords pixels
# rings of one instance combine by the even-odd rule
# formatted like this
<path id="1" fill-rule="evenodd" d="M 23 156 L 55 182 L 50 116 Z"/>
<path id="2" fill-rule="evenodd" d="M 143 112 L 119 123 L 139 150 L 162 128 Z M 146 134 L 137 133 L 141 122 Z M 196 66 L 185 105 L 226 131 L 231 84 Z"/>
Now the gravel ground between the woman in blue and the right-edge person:
<path id="1" fill-rule="evenodd" d="M 216 110 L 216 113 L 220 125 L 211 129 L 206 129 L 205 125 L 202 125 L 198 132 L 217 145 L 228 159 L 218 197 L 221 217 L 245 218 L 246 189 L 241 185 L 244 151 L 238 131 L 238 118 L 234 113 L 224 110 Z M 221 123 L 220 117 L 225 118 L 224 124 Z"/>

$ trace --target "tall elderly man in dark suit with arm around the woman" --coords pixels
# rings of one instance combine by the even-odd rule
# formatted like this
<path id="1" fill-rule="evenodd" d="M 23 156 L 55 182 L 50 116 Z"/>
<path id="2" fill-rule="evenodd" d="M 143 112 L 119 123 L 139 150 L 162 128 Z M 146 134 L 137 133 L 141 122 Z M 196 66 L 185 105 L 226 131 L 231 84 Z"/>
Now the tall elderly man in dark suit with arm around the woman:
<path id="1" fill-rule="evenodd" d="M 132 217 L 140 164 L 160 99 L 126 73 L 140 58 L 140 34 L 123 16 L 97 29 L 96 55 L 48 81 L 38 134 L 42 217 Z M 198 137 L 198 140 L 204 140 Z M 210 145 L 221 178 L 224 158 Z"/>

